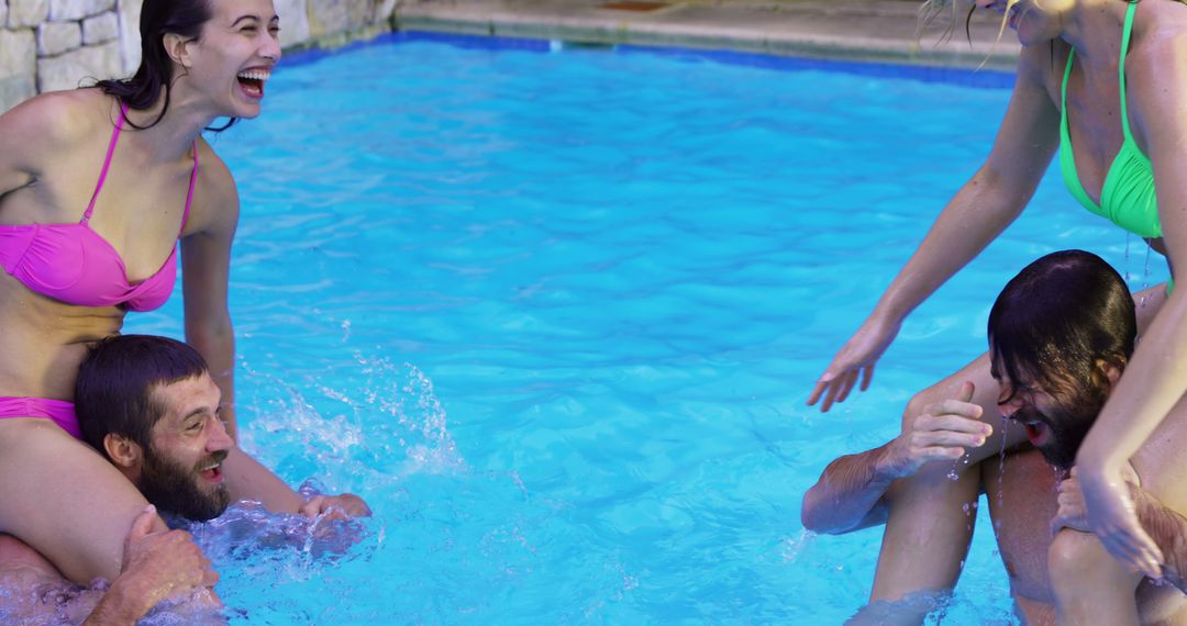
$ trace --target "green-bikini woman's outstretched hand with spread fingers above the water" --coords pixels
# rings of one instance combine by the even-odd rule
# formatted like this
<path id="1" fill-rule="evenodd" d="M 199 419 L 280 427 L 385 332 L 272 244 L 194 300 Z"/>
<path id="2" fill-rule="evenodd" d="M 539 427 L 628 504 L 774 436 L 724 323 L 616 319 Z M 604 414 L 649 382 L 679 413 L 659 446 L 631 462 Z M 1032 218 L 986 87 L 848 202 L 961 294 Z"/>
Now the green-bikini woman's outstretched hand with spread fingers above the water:
<path id="1" fill-rule="evenodd" d="M 874 379 L 874 364 L 890 346 L 890 341 L 894 341 L 901 326 L 901 320 L 888 321 L 881 315 L 870 315 L 817 381 L 815 389 L 808 396 L 808 407 L 823 396 L 820 413 L 827 413 L 834 402 L 844 402 L 849 397 L 858 376 L 862 377 L 862 391 L 869 389 L 870 381 Z"/>

